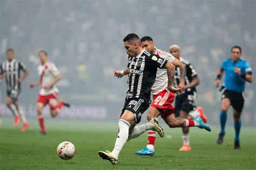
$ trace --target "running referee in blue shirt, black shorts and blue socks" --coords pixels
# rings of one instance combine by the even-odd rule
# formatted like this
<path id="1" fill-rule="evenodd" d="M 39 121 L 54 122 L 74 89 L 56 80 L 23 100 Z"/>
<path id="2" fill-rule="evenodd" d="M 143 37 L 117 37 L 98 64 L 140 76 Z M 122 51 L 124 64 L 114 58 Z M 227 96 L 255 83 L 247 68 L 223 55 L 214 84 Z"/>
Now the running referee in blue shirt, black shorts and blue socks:
<path id="1" fill-rule="evenodd" d="M 221 96 L 220 133 L 217 144 L 222 144 L 223 142 L 227 111 L 230 105 L 232 105 L 235 129 L 234 149 L 240 148 L 240 117 L 242 108 L 244 107 L 244 97 L 242 93 L 245 90 L 245 82 L 248 81 L 252 83 L 253 79 L 251 66 L 245 60 L 240 59 L 241 54 L 241 47 L 233 46 L 231 49 L 231 58 L 223 61 L 215 80 L 215 86 L 219 87 L 221 76 L 225 71 L 225 91 Z"/>

